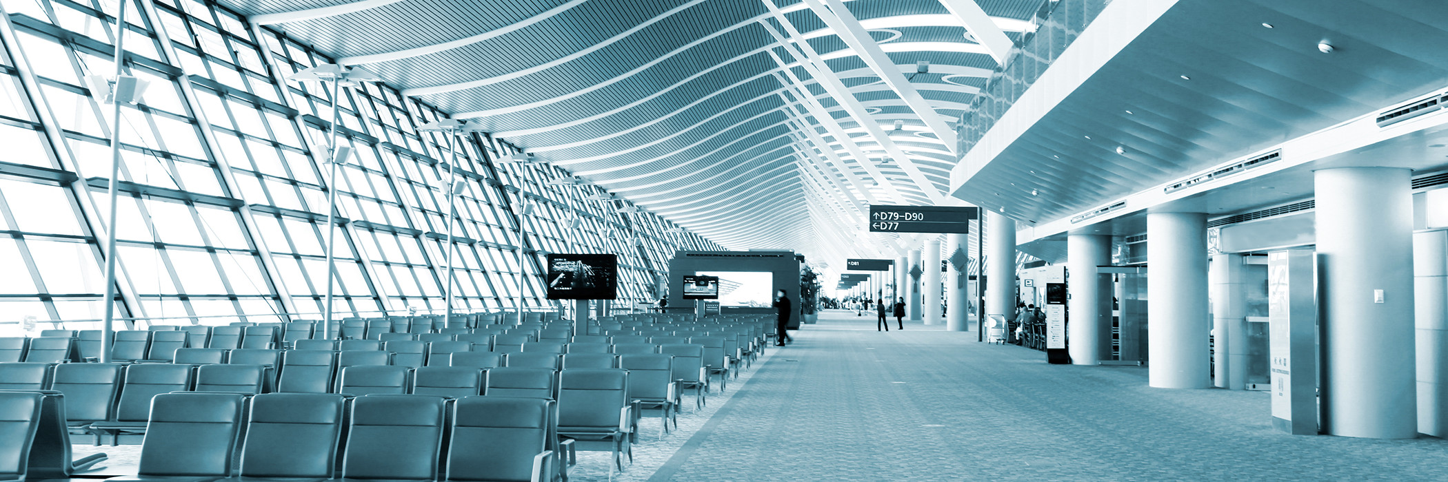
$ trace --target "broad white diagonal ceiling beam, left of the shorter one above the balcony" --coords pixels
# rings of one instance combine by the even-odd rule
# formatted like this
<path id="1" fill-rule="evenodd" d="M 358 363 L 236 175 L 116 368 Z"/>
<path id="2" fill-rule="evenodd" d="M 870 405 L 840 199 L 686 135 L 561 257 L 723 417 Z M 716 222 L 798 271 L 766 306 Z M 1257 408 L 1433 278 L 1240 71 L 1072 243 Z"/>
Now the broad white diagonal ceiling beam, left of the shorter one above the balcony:
<path id="1" fill-rule="evenodd" d="M 935 133 L 935 138 L 946 143 L 946 149 L 950 153 L 956 153 L 956 130 L 940 120 L 935 114 L 935 107 L 931 107 L 925 97 L 919 96 L 915 85 L 911 84 L 905 74 L 901 74 L 899 68 L 895 67 L 895 61 L 880 49 L 880 43 L 870 38 L 870 32 L 860 25 L 860 20 L 850 13 L 850 9 L 844 6 L 840 0 L 824 0 L 830 6 L 825 7 L 821 0 L 804 0 L 814 10 L 815 16 L 824 20 L 835 35 L 844 41 L 846 45 L 853 48 L 864 65 L 869 65 L 885 81 L 891 90 L 895 91 L 901 100 L 915 111 L 915 116 L 930 127 L 930 132 Z M 969 0 L 967 0 L 969 1 Z M 993 23 L 992 23 L 993 25 Z M 999 30 L 998 30 L 999 32 Z"/>

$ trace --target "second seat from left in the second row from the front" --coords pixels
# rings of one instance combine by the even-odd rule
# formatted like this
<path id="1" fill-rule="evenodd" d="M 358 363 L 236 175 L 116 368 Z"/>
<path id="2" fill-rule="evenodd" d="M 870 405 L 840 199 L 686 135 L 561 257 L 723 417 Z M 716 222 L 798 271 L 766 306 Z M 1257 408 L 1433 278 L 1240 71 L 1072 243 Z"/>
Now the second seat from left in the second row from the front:
<path id="1" fill-rule="evenodd" d="M 61 363 L 51 389 L 65 395 L 65 423 L 85 427 L 110 420 L 120 391 L 120 363 Z"/>

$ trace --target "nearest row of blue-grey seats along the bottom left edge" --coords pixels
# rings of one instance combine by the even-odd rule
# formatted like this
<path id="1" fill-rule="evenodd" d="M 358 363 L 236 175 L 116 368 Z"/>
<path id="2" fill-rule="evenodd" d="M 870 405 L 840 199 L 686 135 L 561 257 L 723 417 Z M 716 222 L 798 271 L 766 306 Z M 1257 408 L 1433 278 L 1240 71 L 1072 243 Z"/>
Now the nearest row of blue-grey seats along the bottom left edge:
<path id="1" fill-rule="evenodd" d="M 35 479 L 58 397 L 0 392 L 0 478 Z M 138 473 L 113 481 L 556 481 L 560 423 L 594 420 L 543 398 L 158 394 Z"/>

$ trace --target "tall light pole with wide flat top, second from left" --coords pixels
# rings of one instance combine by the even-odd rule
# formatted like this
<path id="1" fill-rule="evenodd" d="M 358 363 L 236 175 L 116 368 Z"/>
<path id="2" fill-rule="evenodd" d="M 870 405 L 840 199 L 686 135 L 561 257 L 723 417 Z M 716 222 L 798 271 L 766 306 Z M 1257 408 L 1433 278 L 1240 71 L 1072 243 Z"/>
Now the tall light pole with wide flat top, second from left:
<path id="1" fill-rule="evenodd" d="M 350 146 L 337 146 L 339 132 L 342 127 L 342 87 L 358 87 L 362 83 L 376 83 L 381 77 L 368 72 L 361 67 L 342 67 L 337 64 L 321 64 L 313 68 L 301 69 L 295 74 L 287 77 L 287 80 L 300 83 L 319 83 L 321 85 L 332 87 L 332 133 L 327 136 L 327 298 L 321 310 L 321 333 L 326 337 L 332 337 L 332 288 L 334 278 L 337 276 L 337 266 L 333 259 L 333 245 L 336 240 L 337 226 L 336 226 L 336 211 L 337 211 L 337 166 L 348 162 L 352 155 Z M 340 330 L 337 330 L 340 333 Z"/>

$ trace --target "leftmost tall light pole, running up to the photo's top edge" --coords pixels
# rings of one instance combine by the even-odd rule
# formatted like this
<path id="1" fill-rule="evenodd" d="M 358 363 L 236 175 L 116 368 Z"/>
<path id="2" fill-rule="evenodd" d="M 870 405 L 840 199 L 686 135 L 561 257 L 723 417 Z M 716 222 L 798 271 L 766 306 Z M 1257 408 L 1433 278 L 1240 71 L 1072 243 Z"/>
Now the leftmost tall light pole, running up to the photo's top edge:
<path id="1" fill-rule="evenodd" d="M 106 78 L 104 75 L 90 75 L 85 83 L 90 84 L 91 97 L 96 97 L 97 103 L 110 104 L 110 187 L 106 197 L 110 200 L 110 211 L 106 214 L 106 298 L 101 300 L 104 304 L 104 316 L 101 316 L 101 339 L 100 339 L 100 360 L 101 363 L 110 363 L 110 339 L 114 336 L 116 323 L 116 204 L 120 193 L 117 187 L 120 185 L 120 104 L 135 104 L 140 101 L 140 94 L 146 90 L 146 81 L 138 80 L 133 75 L 125 74 L 126 67 L 126 6 L 129 0 L 119 1 L 119 12 L 116 13 L 116 75 Z"/>

